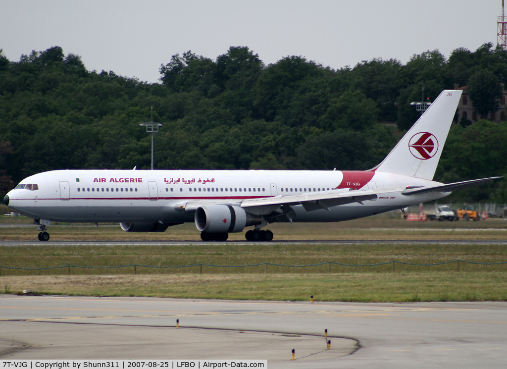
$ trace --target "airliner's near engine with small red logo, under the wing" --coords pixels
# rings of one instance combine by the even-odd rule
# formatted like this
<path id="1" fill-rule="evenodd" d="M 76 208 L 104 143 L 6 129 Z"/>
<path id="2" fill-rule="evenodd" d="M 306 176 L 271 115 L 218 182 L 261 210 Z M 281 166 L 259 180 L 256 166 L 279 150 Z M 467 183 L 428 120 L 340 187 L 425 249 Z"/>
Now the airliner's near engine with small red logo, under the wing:
<path id="1" fill-rule="evenodd" d="M 205 233 L 241 232 L 243 228 L 261 224 L 264 218 L 232 205 L 204 205 L 195 212 L 195 225 Z"/>

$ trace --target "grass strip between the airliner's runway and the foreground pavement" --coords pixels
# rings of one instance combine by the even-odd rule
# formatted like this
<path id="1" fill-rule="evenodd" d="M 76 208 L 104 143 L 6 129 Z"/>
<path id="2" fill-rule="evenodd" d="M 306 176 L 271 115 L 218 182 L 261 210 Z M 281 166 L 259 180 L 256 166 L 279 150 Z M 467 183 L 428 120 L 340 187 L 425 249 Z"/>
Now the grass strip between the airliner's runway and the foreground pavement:
<path id="1" fill-rule="evenodd" d="M 456 259 L 498 263 L 503 245 L 206 245 L 206 246 L 12 246 L 0 247 L 0 264 L 22 268 L 62 265 L 110 267 L 129 264 L 183 266 L 327 261 L 364 265 L 387 261 L 426 264 Z M 136 273 L 136 274 L 134 274 Z M 482 301 L 507 300 L 507 266 L 459 263 L 438 266 L 392 264 L 287 268 L 202 267 L 6 270 L 0 288 L 20 293 L 90 296 L 304 301 Z"/>

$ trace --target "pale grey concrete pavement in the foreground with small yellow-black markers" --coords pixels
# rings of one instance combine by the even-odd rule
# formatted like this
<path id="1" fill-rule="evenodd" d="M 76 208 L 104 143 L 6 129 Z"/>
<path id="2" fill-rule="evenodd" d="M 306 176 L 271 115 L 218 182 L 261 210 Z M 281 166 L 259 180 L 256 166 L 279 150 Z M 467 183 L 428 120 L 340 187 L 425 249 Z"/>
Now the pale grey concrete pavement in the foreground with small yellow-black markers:
<path id="1" fill-rule="evenodd" d="M 503 302 L 310 304 L 2 295 L 0 319 L 2 359 L 251 358 L 268 359 L 269 368 L 507 365 Z M 324 329 L 331 350 L 326 350 Z M 290 360 L 293 348 L 295 361 Z"/>

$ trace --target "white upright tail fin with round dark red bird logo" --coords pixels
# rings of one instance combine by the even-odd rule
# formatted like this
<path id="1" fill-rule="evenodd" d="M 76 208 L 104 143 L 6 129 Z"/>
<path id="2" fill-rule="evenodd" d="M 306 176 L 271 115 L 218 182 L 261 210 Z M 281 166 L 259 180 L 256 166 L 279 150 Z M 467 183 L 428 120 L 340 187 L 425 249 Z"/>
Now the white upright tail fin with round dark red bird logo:
<path id="1" fill-rule="evenodd" d="M 433 179 L 461 93 L 461 90 L 442 91 L 382 163 L 372 170 Z"/>

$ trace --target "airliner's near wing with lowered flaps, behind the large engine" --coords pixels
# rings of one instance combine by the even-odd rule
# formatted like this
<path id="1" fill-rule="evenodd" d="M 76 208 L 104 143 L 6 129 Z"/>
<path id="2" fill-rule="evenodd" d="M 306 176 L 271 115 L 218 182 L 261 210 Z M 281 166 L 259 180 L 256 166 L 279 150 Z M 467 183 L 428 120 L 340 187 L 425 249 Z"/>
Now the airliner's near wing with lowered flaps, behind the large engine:
<path id="1" fill-rule="evenodd" d="M 377 199 L 378 194 L 400 192 L 403 190 L 403 187 L 395 187 L 362 191 L 327 191 L 317 194 L 275 196 L 243 200 L 240 206 L 252 214 L 266 214 L 283 205 L 292 206 L 299 204 L 303 205 L 306 211 L 317 209 L 329 210 L 332 206 L 353 202 L 363 204 L 363 201 Z"/>

